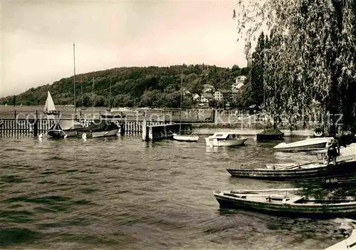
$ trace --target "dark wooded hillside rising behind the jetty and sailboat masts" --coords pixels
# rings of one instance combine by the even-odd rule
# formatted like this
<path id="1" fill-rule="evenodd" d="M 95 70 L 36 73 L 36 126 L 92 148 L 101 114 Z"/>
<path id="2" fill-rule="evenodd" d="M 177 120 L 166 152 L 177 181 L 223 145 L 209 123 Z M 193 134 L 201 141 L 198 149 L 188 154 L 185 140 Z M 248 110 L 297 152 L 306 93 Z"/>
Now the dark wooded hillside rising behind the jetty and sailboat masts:
<path id="1" fill-rule="evenodd" d="M 206 65 L 170 67 L 112 68 L 75 75 L 76 103 L 78 106 L 93 105 L 93 79 L 95 106 L 109 105 L 110 82 L 112 107 L 169 107 L 177 108 L 180 98 L 180 79 L 183 74 L 183 88 L 190 93 L 200 94 L 204 84 L 219 88 L 230 88 L 236 76 L 246 75 L 247 68 L 220 68 Z M 83 89 L 83 92 L 82 92 Z M 56 105 L 73 104 L 73 75 L 53 84 L 31 88 L 16 95 L 16 103 L 41 105 L 46 102 L 47 91 L 51 92 Z M 82 95 L 83 93 L 83 95 Z M 14 96 L 1 98 L 0 103 L 14 103 Z M 184 98 L 184 106 L 192 105 L 190 98 Z"/>

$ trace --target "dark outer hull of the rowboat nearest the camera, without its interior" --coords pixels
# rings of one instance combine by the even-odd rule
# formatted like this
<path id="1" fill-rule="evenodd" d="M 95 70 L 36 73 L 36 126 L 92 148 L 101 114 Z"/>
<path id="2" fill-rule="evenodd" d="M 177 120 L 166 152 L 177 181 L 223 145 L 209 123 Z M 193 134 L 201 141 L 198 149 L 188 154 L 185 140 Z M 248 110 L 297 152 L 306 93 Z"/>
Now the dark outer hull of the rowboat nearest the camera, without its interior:
<path id="1" fill-rule="evenodd" d="M 356 216 L 356 202 L 340 202 L 323 204 L 308 203 L 285 203 L 270 202 L 266 198 L 261 198 L 260 202 L 244 198 L 231 197 L 226 192 L 214 191 L 214 197 L 219 202 L 220 207 L 241 209 L 246 211 L 261 212 L 288 217 L 339 217 L 347 215 Z"/>

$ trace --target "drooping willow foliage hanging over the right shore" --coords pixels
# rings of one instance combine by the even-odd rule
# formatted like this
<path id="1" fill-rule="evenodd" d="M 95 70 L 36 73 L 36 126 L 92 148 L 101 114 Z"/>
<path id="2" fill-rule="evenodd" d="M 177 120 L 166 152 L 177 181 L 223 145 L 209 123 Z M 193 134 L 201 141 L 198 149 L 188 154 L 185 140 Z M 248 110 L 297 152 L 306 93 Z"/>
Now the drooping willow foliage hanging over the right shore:
<path id="1" fill-rule="evenodd" d="M 271 115 L 295 123 L 315 118 L 318 107 L 324 121 L 328 113 L 338 114 L 337 125 L 355 132 L 355 6 L 340 0 L 239 0 L 235 19 L 246 56 L 256 32 L 263 25 L 271 31 L 263 71 Z M 334 122 L 323 124 L 328 132 Z"/>

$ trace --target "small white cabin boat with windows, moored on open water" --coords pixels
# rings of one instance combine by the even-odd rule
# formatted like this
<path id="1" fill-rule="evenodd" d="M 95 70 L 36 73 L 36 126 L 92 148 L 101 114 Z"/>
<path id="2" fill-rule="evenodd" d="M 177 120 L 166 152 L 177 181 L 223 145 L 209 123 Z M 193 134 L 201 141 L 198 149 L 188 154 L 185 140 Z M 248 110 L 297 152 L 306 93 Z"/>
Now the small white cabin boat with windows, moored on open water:
<path id="1" fill-rule="evenodd" d="M 233 131 L 216 132 L 214 135 L 205 137 L 206 145 L 214 147 L 231 147 L 244 145 L 246 140 L 246 137 L 241 137 L 241 135 Z"/>

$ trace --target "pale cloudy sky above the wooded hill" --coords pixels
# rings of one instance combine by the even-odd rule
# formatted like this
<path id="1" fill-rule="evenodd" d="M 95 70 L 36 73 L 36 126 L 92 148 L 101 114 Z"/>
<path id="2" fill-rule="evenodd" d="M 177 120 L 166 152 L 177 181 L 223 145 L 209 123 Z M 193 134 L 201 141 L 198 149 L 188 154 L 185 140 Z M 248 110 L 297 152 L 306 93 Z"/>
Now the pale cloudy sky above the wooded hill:
<path id="1" fill-rule="evenodd" d="M 236 1 L 1 2 L 0 98 L 121 66 L 246 66 Z"/>

